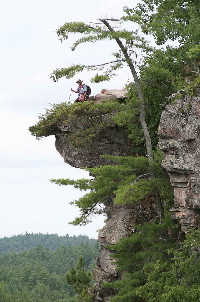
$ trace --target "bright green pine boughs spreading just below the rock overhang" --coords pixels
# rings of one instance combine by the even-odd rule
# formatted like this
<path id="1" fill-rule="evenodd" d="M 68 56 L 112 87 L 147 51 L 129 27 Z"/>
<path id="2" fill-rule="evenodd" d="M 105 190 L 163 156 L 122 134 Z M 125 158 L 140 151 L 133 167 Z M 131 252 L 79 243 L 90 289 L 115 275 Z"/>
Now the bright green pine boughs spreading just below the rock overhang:
<path id="1" fill-rule="evenodd" d="M 102 156 L 117 165 L 105 165 L 95 168 L 84 168 L 94 179 L 80 179 L 77 181 L 67 179 L 52 179 L 58 185 L 73 185 L 81 191 L 87 191 L 83 197 L 70 202 L 80 208 L 81 216 L 71 223 L 86 224 L 90 217 L 107 213 L 110 216 L 110 204 L 113 199 L 116 204 L 135 203 L 152 190 L 160 191 L 165 201 L 173 199 L 173 190 L 168 181 L 168 175 L 161 168 L 162 152 L 157 148 L 154 159 L 149 165 L 144 156 Z M 155 171 L 155 178 L 150 172 Z M 164 201 L 163 200 L 163 201 Z"/>

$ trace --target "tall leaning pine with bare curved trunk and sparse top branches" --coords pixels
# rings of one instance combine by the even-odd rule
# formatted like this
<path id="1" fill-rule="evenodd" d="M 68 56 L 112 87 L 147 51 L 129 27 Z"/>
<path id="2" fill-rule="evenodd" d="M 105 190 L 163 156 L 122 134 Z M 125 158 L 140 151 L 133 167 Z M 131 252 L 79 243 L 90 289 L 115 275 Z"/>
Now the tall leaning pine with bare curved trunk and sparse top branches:
<path id="1" fill-rule="evenodd" d="M 129 17 L 128 21 L 130 20 Z M 86 70 L 102 70 L 105 66 L 108 66 L 108 69 L 102 75 L 98 73 L 91 79 L 91 82 L 100 82 L 100 81 L 108 81 L 111 77 L 113 77 L 114 71 L 116 69 L 122 68 L 123 64 L 128 64 L 130 71 L 132 73 L 136 90 L 137 90 L 137 98 L 139 100 L 139 120 L 142 126 L 142 130 L 144 132 L 145 143 L 146 143 L 146 151 L 148 162 L 151 165 L 153 161 L 153 153 L 152 153 L 152 143 L 149 135 L 148 127 L 145 121 L 145 104 L 142 93 L 142 88 L 140 85 L 140 81 L 134 67 L 134 62 L 137 61 L 137 53 L 136 49 L 148 52 L 150 50 L 149 43 L 144 37 L 140 37 L 137 31 L 127 31 L 123 30 L 114 30 L 116 23 L 123 24 L 127 21 L 126 17 L 122 17 L 120 19 L 98 19 L 98 22 L 95 24 L 84 24 L 83 22 L 69 22 L 65 23 L 63 26 L 59 27 L 57 30 L 58 36 L 60 36 L 61 42 L 67 40 L 69 33 L 80 33 L 84 34 L 84 36 L 73 44 L 72 50 L 74 50 L 79 44 L 85 42 L 96 42 L 99 40 L 115 40 L 120 47 L 120 50 L 117 53 L 113 53 L 115 59 L 111 62 L 85 66 L 85 65 L 72 65 L 68 68 L 60 68 L 56 69 L 50 75 L 51 79 L 55 82 L 58 81 L 61 77 L 66 77 L 66 79 L 70 79 L 75 76 L 78 72 Z M 111 26 L 111 24 L 114 24 Z M 153 169 L 150 169 L 149 176 L 152 179 L 155 179 L 155 172 Z M 141 177 L 138 177 L 141 179 Z M 55 180 L 53 180 L 55 181 Z M 157 212 L 159 223 L 162 222 L 164 218 L 164 210 L 163 205 L 160 198 L 159 191 L 154 188 L 153 189 L 155 209 Z M 163 238 L 168 239 L 168 233 L 162 233 Z"/>

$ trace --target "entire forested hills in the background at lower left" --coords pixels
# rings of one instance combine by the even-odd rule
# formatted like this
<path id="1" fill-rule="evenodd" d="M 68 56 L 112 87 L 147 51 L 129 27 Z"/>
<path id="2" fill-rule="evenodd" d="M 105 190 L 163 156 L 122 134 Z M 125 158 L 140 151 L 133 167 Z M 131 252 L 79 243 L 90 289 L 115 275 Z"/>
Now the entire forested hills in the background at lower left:
<path id="1" fill-rule="evenodd" d="M 92 271 L 99 256 L 97 241 L 84 235 L 26 232 L 0 242 L 1 302 L 69 302 L 75 292 L 66 273 L 76 267 L 80 255 L 84 269 Z"/>

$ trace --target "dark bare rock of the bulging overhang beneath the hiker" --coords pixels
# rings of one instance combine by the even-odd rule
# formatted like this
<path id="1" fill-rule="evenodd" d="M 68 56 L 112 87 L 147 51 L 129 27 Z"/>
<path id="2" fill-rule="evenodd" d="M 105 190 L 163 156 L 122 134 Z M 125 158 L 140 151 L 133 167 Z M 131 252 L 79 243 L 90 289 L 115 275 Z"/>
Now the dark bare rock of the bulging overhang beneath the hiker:
<path id="1" fill-rule="evenodd" d="M 127 129 L 116 128 L 115 123 L 112 127 L 104 127 L 96 133 L 91 143 L 87 146 L 73 147 L 68 136 L 76 133 L 83 128 L 83 124 L 65 123 L 57 125 L 58 133 L 55 138 L 55 147 L 64 161 L 73 167 L 97 167 L 108 164 L 108 161 L 100 156 L 111 154 L 117 156 L 126 155 L 133 146 L 133 142 L 127 138 Z"/>

